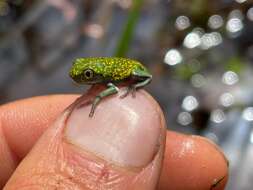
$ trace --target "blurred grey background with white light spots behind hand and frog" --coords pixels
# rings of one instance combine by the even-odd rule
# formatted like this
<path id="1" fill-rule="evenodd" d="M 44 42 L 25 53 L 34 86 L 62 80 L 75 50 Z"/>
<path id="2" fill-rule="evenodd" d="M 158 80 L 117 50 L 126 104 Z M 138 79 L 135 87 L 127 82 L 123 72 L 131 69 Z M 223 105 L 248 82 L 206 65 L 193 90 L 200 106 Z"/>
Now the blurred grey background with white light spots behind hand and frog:
<path id="1" fill-rule="evenodd" d="M 82 93 L 68 70 L 87 56 L 146 65 L 170 129 L 219 144 L 227 189 L 253 189 L 252 0 L 0 0 L 1 104 Z"/>

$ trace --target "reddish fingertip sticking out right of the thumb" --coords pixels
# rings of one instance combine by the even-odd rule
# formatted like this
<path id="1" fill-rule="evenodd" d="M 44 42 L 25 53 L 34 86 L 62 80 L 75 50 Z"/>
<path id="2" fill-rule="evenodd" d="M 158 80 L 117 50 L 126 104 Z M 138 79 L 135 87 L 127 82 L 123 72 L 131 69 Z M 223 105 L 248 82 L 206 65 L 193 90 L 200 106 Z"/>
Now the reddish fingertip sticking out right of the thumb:
<path id="1" fill-rule="evenodd" d="M 160 190 L 224 189 L 228 165 L 222 151 L 203 137 L 167 133 Z"/>

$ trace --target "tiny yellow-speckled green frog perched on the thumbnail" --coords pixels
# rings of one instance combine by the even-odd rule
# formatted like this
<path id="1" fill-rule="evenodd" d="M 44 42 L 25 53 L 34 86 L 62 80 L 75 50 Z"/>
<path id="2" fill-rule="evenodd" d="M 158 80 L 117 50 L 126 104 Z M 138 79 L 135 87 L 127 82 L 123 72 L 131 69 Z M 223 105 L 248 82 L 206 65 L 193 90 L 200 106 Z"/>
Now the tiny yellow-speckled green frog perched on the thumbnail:
<path id="1" fill-rule="evenodd" d="M 132 92 L 133 97 L 138 88 L 149 84 L 152 75 L 138 61 L 118 57 L 78 58 L 69 72 L 70 77 L 79 84 L 106 84 L 107 89 L 99 93 L 92 102 L 89 117 L 92 117 L 96 106 L 102 98 L 119 91 L 116 83 L 130 82 L 125 94 Z"/>

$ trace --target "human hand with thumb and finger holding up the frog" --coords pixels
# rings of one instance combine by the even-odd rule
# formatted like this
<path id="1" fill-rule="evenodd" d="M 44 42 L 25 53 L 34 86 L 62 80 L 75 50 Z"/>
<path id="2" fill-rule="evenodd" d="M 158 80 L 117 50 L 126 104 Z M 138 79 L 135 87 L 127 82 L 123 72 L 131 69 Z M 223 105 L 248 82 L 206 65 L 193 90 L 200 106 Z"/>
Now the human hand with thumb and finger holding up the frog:
<path id="1" fill-rule="evenodd" d="M 222 179 L 213 189 L 224 189 L 222 152 L 202 137 L 166 132 L 159 106 L 144 91 L 103 100 L 93 118 L 79 103 L 62 112 L 77 97 L 0 107 L 0 188 L 8 181 L 6 190 L 208 190 Z"/>

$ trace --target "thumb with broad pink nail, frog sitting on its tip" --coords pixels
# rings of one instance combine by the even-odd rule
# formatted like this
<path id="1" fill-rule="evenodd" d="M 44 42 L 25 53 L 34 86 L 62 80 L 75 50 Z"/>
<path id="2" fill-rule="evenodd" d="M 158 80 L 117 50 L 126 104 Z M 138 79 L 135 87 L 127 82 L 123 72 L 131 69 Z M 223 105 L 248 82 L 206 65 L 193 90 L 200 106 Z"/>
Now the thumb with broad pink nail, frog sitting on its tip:
<path id="1" fill-rule="evenodd" d="M 91 93 L 93 94 L 93 93 Z M 144 91 L 110 97 L 89 118 L 85 95 L 42 135 L 5 186 L 9 189 L 155 189 L 165 122 Z"/>

